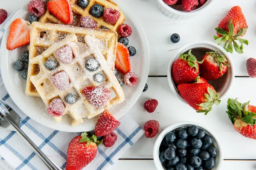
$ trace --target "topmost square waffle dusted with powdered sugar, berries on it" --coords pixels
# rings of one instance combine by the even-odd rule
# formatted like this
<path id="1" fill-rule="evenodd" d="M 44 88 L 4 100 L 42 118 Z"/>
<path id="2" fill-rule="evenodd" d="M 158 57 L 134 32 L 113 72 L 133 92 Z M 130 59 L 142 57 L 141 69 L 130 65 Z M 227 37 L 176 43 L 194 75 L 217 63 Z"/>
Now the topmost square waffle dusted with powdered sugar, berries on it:
<path id="1" fill-rule="evenodd" d="M 93 38 L 90 35 L 86 35 L 84 41 L 85 43 L 78 42 L 75 34 L 69 35 L 61 42 L 57 42 L 49 47 L 43 54 L 30 60 L 32 64 L 38 64 L 40 66 L 39 74 L 30 77 L 38 94 L 47 106 L 53 99 L 61 99 L 65 105 L 64 114 L 69 114 L 74 119 L 73 126 L 81 124 L 83 122 L 82 118 L 93 118 L 113 105 L 123 102 L 125 99 L 119 82 L 99 51 Z M 70 64 L 62 63 L 56 55 L 56 51 L 66 45 L 70 46 L 74 56 Z M 99 69 L 96 71 L 88 71 L 85 67 L 86 61 L 91 58 L 99 62 Z M 45 67 L 47 59 L 55 60 L 57 62 L 57 68 L 48 70 Z M 70 86 L 64 91 L 56 88 L 51 79 L 53 75 L 61 71 L 66 72 L 70 79 Z M 104 77 L 102 82 L 96 82 L 93 78 L 98 73 Z M 104 86 L 111 91 L 111 97 L 103 108 L 93 105 L 82 93 L 85 87 L 96 86 Z M 74 104 L 68 104 L 65 101 L 67 94 L 74 94 L 77 97 L 77 101 Z M 57 122 L 61 121 L 61 116 L 55 118 Z"/>

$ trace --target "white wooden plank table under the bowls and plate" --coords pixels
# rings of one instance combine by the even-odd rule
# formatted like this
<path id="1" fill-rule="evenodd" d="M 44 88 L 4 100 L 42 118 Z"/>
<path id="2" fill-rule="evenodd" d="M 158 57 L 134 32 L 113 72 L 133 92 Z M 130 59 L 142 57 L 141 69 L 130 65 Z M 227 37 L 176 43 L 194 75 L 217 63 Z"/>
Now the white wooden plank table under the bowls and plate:
<path id="1" fill-rule="evenodd" d="M 0 0 L 0 8 L 11 14 L 29 0 Z M 226 113 L 227 99 L 239 98 L 240 102 L 251 101 L 256 105 L 256 78 L 249 78 L 246 60 L 255 57 L 256 47 L 256 0 L 215 0 L 215 3 L 203 14 L 190 20 L 173 20 L 166 17 L 157 8 L 154 0 L 116 0 L 122 1 L 140 20 L 148 37 L 151 65 L 148 77 L 148 90 L 143 92 L 136 104 L 128 111 L 142 127 L 146 121 L 156 119 L 160 123 L 160 132 L 173 123 L 181 121 L 200 122 L 220 139 L 224 149 L 222 170 L 256 169 L 256 140 L 247 139 L 237 133 Z M 236 78 L 232 90 L 218 107 L 207 115 L 196 113 L 189 105 L 179 101 L 171 92 L 167 82 L 167 67 L 177 48 L 196 40 L 213 40 L 214 28 L 233 6 L 241 6 L 248 23 L 244 39 L 244 54 L 231 54 L 235 66 Z M 170 41 L 173 33 L 180 35 L 180 42 Z M 148 99 L 157 99 L 159 105 L 154 113 L 147 113 L 143 103 Z M 155 170 L 153 146 L 157 137 L 146 139 L 143 136 L 113 166 L 113 170 Z M 0 167 L 1 170 L 1 167 Z"/>

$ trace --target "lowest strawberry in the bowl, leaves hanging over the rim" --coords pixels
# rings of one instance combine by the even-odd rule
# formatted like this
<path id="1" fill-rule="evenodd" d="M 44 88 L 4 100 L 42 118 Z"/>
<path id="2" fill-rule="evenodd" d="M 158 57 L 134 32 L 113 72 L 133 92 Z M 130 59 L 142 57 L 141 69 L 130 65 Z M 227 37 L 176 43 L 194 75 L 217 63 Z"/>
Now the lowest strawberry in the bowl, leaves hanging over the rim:
<path id="1" fill-rule="evenodd" d="M 221 102 L 220 93 L 208 83 L 180 84 L 178 90 L 192 108 L 205 115 L 212 110 L 213 104 L 218 105 Z"/>

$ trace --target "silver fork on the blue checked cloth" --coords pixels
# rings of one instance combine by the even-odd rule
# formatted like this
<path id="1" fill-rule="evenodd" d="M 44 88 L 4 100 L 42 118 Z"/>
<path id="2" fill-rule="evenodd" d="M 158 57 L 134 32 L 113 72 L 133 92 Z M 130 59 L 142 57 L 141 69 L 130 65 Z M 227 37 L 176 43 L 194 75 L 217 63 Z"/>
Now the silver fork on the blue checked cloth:
<path id="1" fill-rule="evenodd" d="M 29 144 L 32 150 L 37 154 L 41 161 L 44 162 L 45 166 L 49 170 L 61 170 L 61 168 L 50 160 L 20 129 L 20 116 L 2 99 L 0 99 L 0 104 L 0 126 L 3 127 L 4 130 L 17 132 L 27 142 L 27 144 Z"/>

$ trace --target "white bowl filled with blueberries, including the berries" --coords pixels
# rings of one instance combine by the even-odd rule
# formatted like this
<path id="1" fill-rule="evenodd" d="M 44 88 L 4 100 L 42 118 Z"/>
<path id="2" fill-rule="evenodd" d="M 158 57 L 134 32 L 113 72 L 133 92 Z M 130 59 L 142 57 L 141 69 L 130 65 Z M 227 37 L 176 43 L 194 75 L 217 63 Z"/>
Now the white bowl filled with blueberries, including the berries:
<path id="1" fill-rule="evenodd" d="M 220 170 L 221 144 L 197 122 L 180 122 L 166 127 L 154 144 L 157 170 Z"/>

